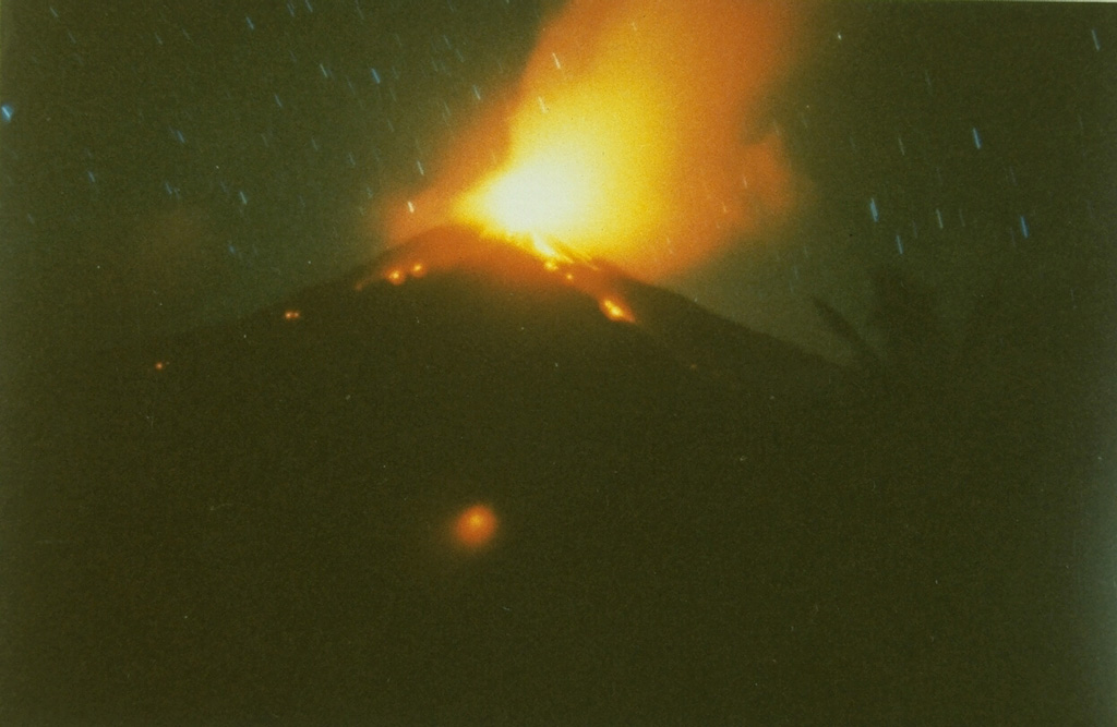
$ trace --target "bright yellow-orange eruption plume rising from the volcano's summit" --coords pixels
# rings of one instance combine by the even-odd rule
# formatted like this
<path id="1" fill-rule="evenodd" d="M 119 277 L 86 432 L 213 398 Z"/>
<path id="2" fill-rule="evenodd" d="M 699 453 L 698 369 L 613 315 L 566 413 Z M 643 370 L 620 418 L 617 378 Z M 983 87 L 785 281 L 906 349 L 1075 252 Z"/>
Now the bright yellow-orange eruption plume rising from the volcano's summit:
<path id="1" fill-rule="evenodd" d="M 390 237 L 462 222 L 657 278 L 771 232 L 803 191 L 765 111 L 796 55 L 798 4 L 571 0 L 504 118 L 464 136 Z"/>

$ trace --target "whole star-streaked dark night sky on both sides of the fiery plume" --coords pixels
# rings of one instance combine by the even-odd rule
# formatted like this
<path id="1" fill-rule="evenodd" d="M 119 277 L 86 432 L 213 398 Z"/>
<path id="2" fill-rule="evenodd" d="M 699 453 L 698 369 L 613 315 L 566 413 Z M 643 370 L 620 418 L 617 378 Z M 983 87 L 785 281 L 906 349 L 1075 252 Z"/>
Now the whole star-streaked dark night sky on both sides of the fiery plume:
<path id="1" fill-rule="evenodd" d="M 437 175 L 555 4 L 6 2 L 4 347 L 220 321 L 375 255 L 378 205 Z M 1107 331 L 1117 12 L 834 6 L 773 106 L 810 202 L 668 285 L 838 357 L 812 298 L 871 341 L 881 269 L 956 336 L 983 302 Z"/>

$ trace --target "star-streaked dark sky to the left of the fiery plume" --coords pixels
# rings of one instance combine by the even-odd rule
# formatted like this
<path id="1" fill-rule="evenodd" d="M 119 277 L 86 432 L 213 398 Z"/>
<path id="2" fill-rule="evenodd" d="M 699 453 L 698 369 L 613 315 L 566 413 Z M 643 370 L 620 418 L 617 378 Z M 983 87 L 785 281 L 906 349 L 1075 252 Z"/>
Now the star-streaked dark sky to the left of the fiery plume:
<path id="1" fill-rule="evenodd" d="M 16 307 L 115 343 L 378 252 L 378 200 L 514 79 L 538 9 L 366 4 L 6 3 Z"/>

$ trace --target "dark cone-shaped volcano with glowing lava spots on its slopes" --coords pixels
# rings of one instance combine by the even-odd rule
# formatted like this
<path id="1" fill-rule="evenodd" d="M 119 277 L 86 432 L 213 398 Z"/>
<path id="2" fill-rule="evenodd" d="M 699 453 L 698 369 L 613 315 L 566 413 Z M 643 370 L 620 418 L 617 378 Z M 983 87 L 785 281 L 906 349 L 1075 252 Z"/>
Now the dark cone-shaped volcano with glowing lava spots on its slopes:
<path id="1" fill-rule="evenodd" d="M 953 436 L 850 380 L 468 228 L 86 356 L 19 403 L 6 721 L 976 714 Z"/>

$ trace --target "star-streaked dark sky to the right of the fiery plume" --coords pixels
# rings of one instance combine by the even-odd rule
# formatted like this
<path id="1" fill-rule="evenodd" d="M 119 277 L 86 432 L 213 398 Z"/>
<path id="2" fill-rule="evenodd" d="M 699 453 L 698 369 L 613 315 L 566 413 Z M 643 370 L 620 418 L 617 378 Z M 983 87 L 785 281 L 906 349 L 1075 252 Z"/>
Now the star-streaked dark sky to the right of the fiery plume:
<path id="1" fill-rule="evenodd" d="M 982 302 L 1016 318 L 1040 299 L 1111 310 L 1111 283 L 1091 276 L 1114 274 L 1115 30 L 1110 8 L 1080 3 L 820 13 L 784 119 L 814 203 L 792 240 L 742 247 L 688 284 L 822 350 L 804 298 L 871 338 L 879 269 L 928 289 L 958 335 Z"/>

